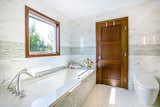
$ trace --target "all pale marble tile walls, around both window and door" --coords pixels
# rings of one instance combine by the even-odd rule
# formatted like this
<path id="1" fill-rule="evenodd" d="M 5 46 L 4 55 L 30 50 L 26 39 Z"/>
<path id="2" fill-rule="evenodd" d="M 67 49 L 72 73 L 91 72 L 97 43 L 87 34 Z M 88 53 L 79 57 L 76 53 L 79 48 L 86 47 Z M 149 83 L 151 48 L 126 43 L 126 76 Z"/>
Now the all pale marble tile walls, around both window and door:
<path id="1" fill-rule="evenodd" d="M 140 5 L 75 20 L 70 20 L 43 2 L 37 0 L 0 1 L 0 82 L 4 77 L 11 77 L 23 67 L 46 66 L 47 68 L 66 65 L 70 60 L 79 63 L 86 58 L 95 60 L 95 22 L 124 16 L 129 17 L 130 89 L 133 87 L 132 74 L 135 71 L 160 71 L 157 67 L 160 63 L 158 60 L 160 59 L 159 0 L 147 0 Z M 24 58 L 25 5 L 61 22 L 61 56 Z"/>

